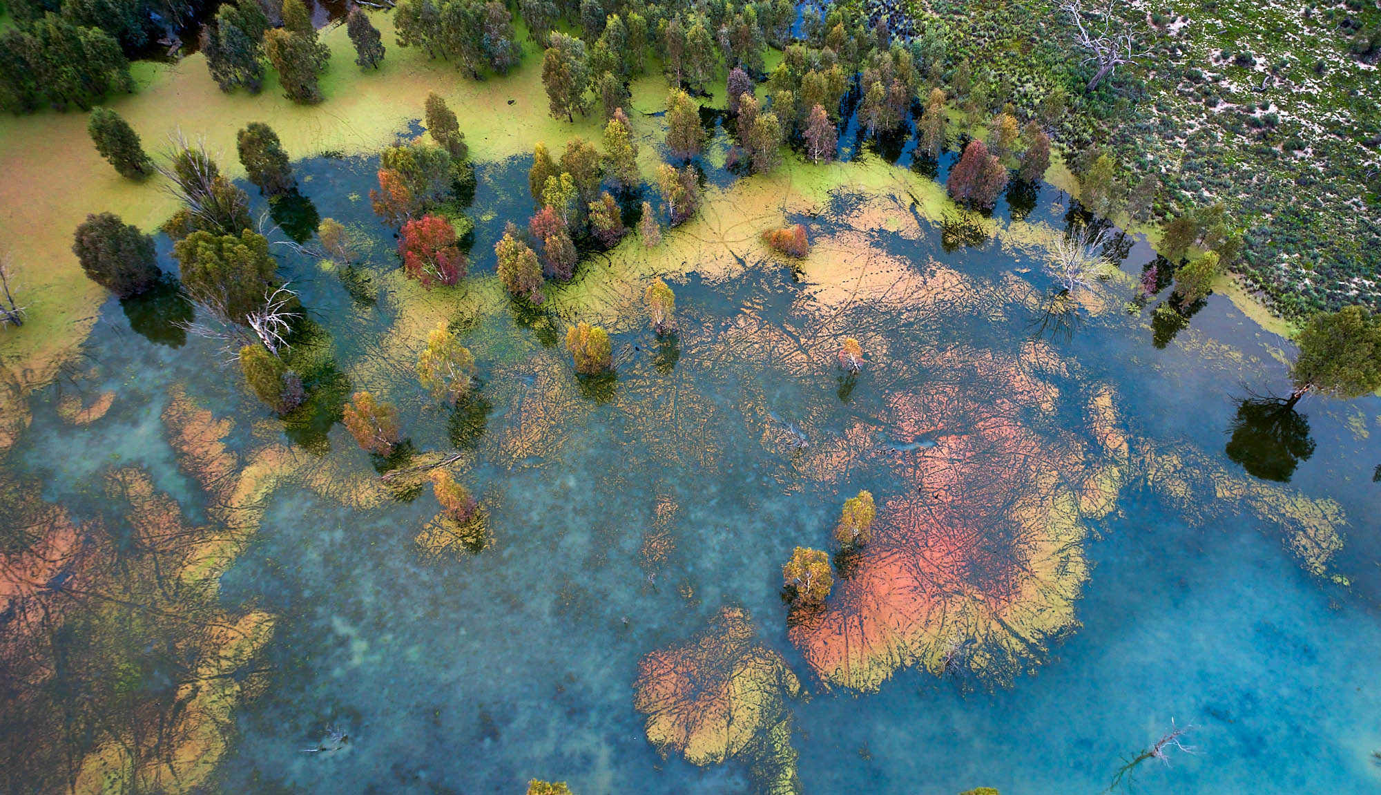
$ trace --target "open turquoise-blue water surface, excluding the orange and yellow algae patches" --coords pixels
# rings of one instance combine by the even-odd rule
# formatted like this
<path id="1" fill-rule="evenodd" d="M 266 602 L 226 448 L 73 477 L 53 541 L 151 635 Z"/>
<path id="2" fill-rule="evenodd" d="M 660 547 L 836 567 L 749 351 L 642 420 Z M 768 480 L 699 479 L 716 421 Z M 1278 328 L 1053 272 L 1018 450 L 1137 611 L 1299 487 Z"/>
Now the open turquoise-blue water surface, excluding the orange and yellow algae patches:
<path id="1" fill-rule="evenodd" d="M 348 197 L 367 192 L 373 163 L 319 159 L 298 168 L 311 177 L 304 192 L 316 213 L 371 230 L 380 250 L 351 280 L 279 251 L 283 275 L 331 334 L 340 371 L 359 360 L 402 362 L 367 386 L 387 389 L 399 404 L 417 450 L 450 450 L 447 418 L 425 404 L 407 375 L 407 355 L 383 348 L 387 328 L 406 311 L 383 277 L 392 242 L 367 203 Z M 479 167 L 472 207 L 494 213 L 476 226 L 471 273 L 492 271 L 503 222 L 529 211 L 525 177 L 521 160 Z M 1001 204 L 996 214 L 1008 211 Z M 1044 188 L 1030 218 L 1063 228 L 1066 211 L 1068 199 Z M 831 213 L 804 221 L 816 237 L 840 228 Z M 539 777 L 569 781 L 586 795 L 761 791 L 754 759 L 707 767 L 674 752 L 663 759 L 634 709 L 638 661 L 684 643 L 725 606 L 747 610 L 758 642 L 780 653 L 809 691 L 787 700 L 802 792 L 953 794 L 979 785 L 1095 792 L 1123 758 L 1171 725 L 1190 726 L 1185 744 L 1195 752 L 1172 752 L 1170 767 L 1143 765 L 1139 791 L 1381 787 L 1371 756 L 1381 749 L 1371 675 L 1381 650 L 1375 398 L 1306 398 L 1300 409 L 1316 450 L 1279 486 L 1331 498 L 1345 512 L 1345 544 L 1327 569 L 1338 580 L 1311 573 L 1290 552 L 1277 518 L 1237 498 L 1214 498 L 1211 489 L 1185 504 L 1132 476 L 1113 512 L 1087 522 L 1090 576 L 1074 603 L 1079 625 L 1022 657 L 1011 682 L 965 668 L 939 676 L 905 668 L 877 693 L 824 686 L 787 638 L 780 565 L 797 545 L 827 548 L 840 504 L 859 489 L 870 489 L 880 507 L 910 490 L 898 455 L 878 453 L 906 442 L 895 438 L 891 398 L 953 388 L 958 398 L 939 410 L 939 431 L 969 432 L 1004 386 L 939 352 L 992 351 L 1015 360 L 1036 317 L 1022 294 L 997 286 L 1015 272 L 1039 294 L 1050 290 L 1029 255 L 992 243 L 947 253 L 939 226 L 928 222 L 918 239 L 878 230 L 871 243 L 917 269 L 934 257 L 964 273 L 985 286 L 985 306 L 996 313 L 863 302 L 822 320 L 802 300 L 809 284 L 780 262 L 749 262 L 726 279 L 692 275 L 674 284 L 682 324 L 674 366 L 650 331 L 616 334 L 619 378 L 602 400 L 543 381 L 544 363 L 565 362 L 550 328 L 568 317 L 534 322 L 500 306 L 478 320 L 456 319 L 490 403 L 482 435 L 470 439 L 474 467 L 460 479 L 482 495 L 493 542 L 471 556 L 420 555 L 413 538 L 436 512 L 429 490 L 365 511 L 300 486 L 273 491 L 220 592 L 231 611 L 253 607 L 276 617 L 272 640 L 253 664 L 264 686 L 222 727 L 229 752 L 203 787 L 521 792 Z M 171 271 L 166 242 L 162 254 Z M 1137 243 L 1121 265 L 1139 277 L 1150 258 Z M 577 287 L 601 262 L 586 259 Z M 1120 309 L 1131 287 L 1101 290 L 1113 311 L 1051 342 L 1068 366 L 1047 377 L 1059 389 L 1054 410 L 1025 407 L 1016 421 L 1051 446 L 1066 436 L 1087 442 L 1085 402 L 1108 385 L 1134 451 L 1175 453 L 1186 472 L 1221 471 L 1251 483 L 1224 453 L 1226 428 L 1237 399 L 1287 389 L 1284 364 L 1271 349 L 1288 344 L 1215 295 L 1157 349 L 1150 309 L 1137 316 Z M 829 340 L 841 330 L 888 352 L 870 356 L 851 391 L 829 359 Z M 215 415 L 235 421 L 231 449 L 249 451 L 265 439 L 267 415 L 235 370 L 207 364 L 213 344 L 162 340 L 133 331 L 126 311 L 109 301 L 84 359 L 36 396 L 33 424 L 8 461 L 41 480 L 44 500 L 79 519 L 104 518 L 116 534 L 123 508 L 101 484 L 112 467 L 142 467 L 191 522 L 211 516 L 167 443 L 160 415 L 171 386 L 185 385 Z M 783 353 L 780 340 L 827 355 L 822 363 Z M 72 426 L 57 404 L 75 389 L 88 399 L 113 389 L 116 400 L 101 420 Z M 547 400 L 559 421 L 522 455 L 508 455 L 496 439 L 515 433 L 530 404 L 523 400 Z M 287 440 L 269 422 L 272 440 Z M 807 435 L 808 450 L 789 444 L 787 424 Z M 856 426 L 870 429 L 866 440 L 848 436 Z M 373 476 L 369 457 L 338 424 L 325 442 L 313 442 L 323 461 Z M 844 464 L 813 475 L 812 455 L 831 444 L 844 450 Z M 663 524 L 659 502 L 674 505 Z M 656 565 L 642 553 L 655 526 L 674 538 Z M 1001 544 L 998 529 L 989 541 Z M 145 671 L 142 686 L 156 691 L 153 679 L 167 675 Z M 102 682 L 93 675 L 83 686 Z M 57 698 L 76 703 L 79 690 Z M 7 755 L 41 754 L 52 741 L 7 723 L 0 730 Z M 333 730 L 348 741 L 304 752 Z M 26 791 L 14 773 L 6 785 Z"/>

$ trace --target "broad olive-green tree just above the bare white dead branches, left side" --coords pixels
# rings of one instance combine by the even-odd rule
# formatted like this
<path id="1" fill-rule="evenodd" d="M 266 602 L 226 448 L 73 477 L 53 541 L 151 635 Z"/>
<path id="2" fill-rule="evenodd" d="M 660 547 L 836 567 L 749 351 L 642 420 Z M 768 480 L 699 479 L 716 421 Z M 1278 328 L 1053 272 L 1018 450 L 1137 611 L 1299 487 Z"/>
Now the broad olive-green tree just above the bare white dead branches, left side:
<path id="1" fill-rule="evenodd" d="M 173 254 L 188 295 L 235 323 L 261 309 L 273 288 L 278 264 L 268 253 L 268 239 L 257 232 L 196 230 L 174 243 Z"/>

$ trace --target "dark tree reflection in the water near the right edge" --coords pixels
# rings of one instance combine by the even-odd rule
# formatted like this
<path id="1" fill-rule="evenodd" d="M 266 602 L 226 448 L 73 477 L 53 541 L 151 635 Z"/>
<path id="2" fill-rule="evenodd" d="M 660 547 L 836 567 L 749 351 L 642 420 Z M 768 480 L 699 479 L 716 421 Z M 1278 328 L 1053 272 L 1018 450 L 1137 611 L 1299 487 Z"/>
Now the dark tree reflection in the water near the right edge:
<path id="1" fill-rule="evenodd" d="M 1262 480 L 1287 483 L 1300 462 L 1313 455 L 1309 418 L 1288 400 L 1242 400 L 1228 431 L 1228 458 Z"/>

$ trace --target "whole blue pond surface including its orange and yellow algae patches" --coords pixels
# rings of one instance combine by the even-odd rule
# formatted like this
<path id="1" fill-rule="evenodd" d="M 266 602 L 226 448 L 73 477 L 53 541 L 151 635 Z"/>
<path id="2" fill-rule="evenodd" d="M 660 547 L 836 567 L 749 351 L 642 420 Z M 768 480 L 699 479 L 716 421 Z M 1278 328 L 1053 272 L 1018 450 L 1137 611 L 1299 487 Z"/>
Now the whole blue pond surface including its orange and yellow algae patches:
<path id="1" fill-rule="evenodd" d="M 1051 242 L 1092 222 L 1066 196 L 946 214 L 871 155 L 725 181 L 657 248 L 515 304 L 493 244 L 528 166 L 476 164 L 470 276 L 425 291 L 362 197 L 374 161 L 297 164 L 309 202 L 272 219 L 312 398 L 287 421 L 175 291 L 104 306 L 6 473 L 50 538 L 6 559 L 32 573 L 6 593 L 32 645 L 12 791 L 1094 792 L 1174 727 L 1192 752 L 1141 791 L 1378 785 L 1381 400 L 1306 399 L 1308 454 L 1257 478 L 1228 447 L 1287 342 L 1221 297 L 1167 328 L 1119 235 L 1120 275 L 1061 295 Z M 360 264 L 286 244 L 322 217 Z M 783 221 L 805 259 L 762 246 Z M 642 308 L 659 276 L 674 335 Z M 615 378 L 574 374 L 577 320 Z M 436 323 L 479 366 L 454 410 L 413 371 Z M 338 424 L 363 389 L 405 460 Z M 438 462 L 478 533 L 438 518 L 413 472 Z M 860 490 L 874 538 L 845 555 Z M 783 600 L 795 547 L 840 571 L 809 614 Z"/>

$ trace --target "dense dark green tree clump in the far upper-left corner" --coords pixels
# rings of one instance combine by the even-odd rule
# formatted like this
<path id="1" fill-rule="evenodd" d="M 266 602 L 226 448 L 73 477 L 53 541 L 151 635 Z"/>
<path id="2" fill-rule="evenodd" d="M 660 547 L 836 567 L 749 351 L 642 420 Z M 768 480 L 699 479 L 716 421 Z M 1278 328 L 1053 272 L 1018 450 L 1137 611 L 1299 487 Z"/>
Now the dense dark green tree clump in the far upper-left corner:
<path id="1" fill-rule="evenodd" d="M 47 104 L 87 110 L 110 91 L 133 91 L 130 62 L 110 35 L 44 14 L 25 30 L 0 35 L 0 108 Z"/>

